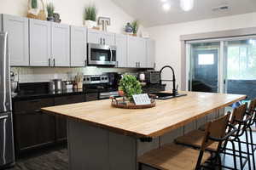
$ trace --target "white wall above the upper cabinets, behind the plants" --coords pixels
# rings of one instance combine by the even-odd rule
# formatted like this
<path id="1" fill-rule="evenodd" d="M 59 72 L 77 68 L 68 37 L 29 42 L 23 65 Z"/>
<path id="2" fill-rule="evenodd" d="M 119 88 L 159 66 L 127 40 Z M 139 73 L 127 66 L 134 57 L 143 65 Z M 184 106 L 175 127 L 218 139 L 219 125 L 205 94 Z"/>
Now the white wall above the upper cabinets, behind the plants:
<path id="1" fill-rule="evenodd" d="M 82 26 L 84 6 L 95 3 L 98 8 L 98 16 L 111 18 L 108 31 L 121 33 L 123 27 L 133 18 L 116 6 L 111 0 L 51 0 L 55 4 L 55 12 L 61 14 L 61 22 Z M 0 14 L 15 14 L 26 16 L 28 0 L 0 0 Z M 49 2 L 49 0 L 44 0 Z"/>

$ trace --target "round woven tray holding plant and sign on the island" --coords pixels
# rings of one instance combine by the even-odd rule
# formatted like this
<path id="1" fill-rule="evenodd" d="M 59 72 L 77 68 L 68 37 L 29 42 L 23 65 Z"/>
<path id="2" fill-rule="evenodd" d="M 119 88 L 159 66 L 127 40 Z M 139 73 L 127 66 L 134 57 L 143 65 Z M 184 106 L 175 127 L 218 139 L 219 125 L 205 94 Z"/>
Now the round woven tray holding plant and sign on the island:
<path id="1" fill-rule="evenodd" d="M 124 101 L 124 99 L 116 99 L 114 97 L 111 97 L 110 99 L 112 99 L 111 105 L 113 107 L 121 109 L 148 109 L 155 107 L 156 105 L 154 99 L 150 99 L 150 105 L 135 105 L 135 103 L 132 103 L 130 101 Z"/>

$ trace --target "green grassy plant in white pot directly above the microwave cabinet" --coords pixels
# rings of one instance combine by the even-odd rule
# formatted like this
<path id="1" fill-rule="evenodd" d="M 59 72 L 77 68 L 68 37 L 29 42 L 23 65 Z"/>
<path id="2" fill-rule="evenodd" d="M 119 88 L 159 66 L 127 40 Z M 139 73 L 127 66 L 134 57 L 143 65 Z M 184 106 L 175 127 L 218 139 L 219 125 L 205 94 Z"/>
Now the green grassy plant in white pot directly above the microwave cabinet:
<path id="1" fill-rule="evenodd" d="M 84 8 L 84 26 L 93 28 L 97 26 L 96 23 L 97 9 L 95 5 L 89 5 Z"/>

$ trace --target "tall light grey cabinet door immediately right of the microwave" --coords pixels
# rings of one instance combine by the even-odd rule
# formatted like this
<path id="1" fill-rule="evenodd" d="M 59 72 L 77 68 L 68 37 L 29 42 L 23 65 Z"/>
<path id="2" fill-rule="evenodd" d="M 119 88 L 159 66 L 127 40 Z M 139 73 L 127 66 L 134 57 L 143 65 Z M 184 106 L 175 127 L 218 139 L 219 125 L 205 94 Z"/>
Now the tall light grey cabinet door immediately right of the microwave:
<path id="1" fill-rule="evenodd" d="M 127 36 L 116 35 L 117 67 L 127 67 Z"/>

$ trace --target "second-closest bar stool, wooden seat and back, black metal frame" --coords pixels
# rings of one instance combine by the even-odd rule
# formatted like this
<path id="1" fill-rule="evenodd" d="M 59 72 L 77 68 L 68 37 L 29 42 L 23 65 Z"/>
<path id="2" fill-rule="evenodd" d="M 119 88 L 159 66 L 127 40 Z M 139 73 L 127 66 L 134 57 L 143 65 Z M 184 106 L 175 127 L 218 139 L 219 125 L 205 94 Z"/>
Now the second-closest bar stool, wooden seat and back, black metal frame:
<path id="1" fill-rule="evenodd" d="M 230 154 L 230 155 L 233 156 L 234 168 L 235 169 L 237 169 L 237 165 L 236 165 L 236 151 L 237 150 L 236 150 L 236 147 L 235 147 L 235 140 L 241 135 L 242 128 L 243 128 L 243 126 L 242 126 L 243 123 L 241 123 L 241 121 L 243 120 L 246 109 L 247 109 L 247 105 L 240 105 L 233 111 L 233 114 L 232 114 L 231 119 L 230 119 L 230 124 L 228 125 L 229 128 L 230 128 L 229 132 L 235 126 L 237 127 L 237 131 L 236 131 L 236 133 L 232 134 L 232 138 L 229 138 L 224 142 L 224 145 L 222 146 L 222 150 L 220 150 L 220 151 L 223 152 L 223 150 L 226 148 L 227 143 L 228 142 L 231 143 L 233 153 Z M 228 114 L 230 114 L 230 111 L 228 112 Z M 237 124 L 239 124 L 239 125 L 237 126 Z M 202 129 L 191 131 L 190 133 L 187 133 L 187 134 L 183 135 L 182 137 L 179 137 L 179 138 L 175 139 L 175 142 L 177 144 L 185 144 L 185 145 L 192 146 L 192 147 L 195 147 L 197 149 L 200 149 L 201 148 L 201 141 L 203 140 L 203 133 L 205 132 L 205 129 L 206 129 L 206 126 L 204 126 Z M 207 150 L 209 150 L 213 153 L 217 152 L 217 149 L 218 149 L 217 144 L 214 144 L 214 143 L 207 147 Z M 241 153 L 241 143 L 239 143 L 239 150 L 240 150 L 239 153 Z M 243 167 L 242 158 L 244 156 L 241 156 L 241 154 L 240 154 L 239 157 L 240 157 L 240 163 L 241 163 L 241 169 L 242 169 L 242 167 Z M 230 168 L 230 167 L 226 167 L 226 168 Z"/>

